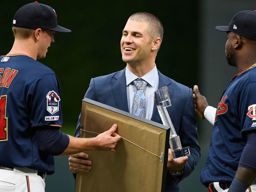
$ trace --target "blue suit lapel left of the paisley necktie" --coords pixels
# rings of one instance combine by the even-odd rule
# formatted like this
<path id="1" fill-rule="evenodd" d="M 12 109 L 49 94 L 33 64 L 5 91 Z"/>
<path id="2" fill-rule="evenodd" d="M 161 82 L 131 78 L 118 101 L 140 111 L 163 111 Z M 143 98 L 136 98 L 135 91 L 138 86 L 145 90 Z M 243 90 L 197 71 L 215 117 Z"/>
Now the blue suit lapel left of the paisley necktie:
<path id="1" fill-rule="evenodd" d="M 114 99 L 116 101 L 117 108 L 126 112 L 129 112 L 127 91 L 126 91 L 126 78 L 125 69 L 117 72 L 111 81 L 112 91 Z"/>

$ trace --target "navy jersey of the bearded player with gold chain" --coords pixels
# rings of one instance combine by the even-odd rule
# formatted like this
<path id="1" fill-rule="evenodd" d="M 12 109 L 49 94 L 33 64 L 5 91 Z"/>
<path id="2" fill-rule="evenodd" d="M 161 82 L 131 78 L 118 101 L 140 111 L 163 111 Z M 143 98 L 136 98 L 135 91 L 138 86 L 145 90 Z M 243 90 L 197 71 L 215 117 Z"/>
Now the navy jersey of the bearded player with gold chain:
<path id="1" fill-rule="evenodd" d="M 217 107 L 201 182 L 232 181 L 246 144 L 245 131 L 256 131 L 256 67 L 229 82 Z"/>

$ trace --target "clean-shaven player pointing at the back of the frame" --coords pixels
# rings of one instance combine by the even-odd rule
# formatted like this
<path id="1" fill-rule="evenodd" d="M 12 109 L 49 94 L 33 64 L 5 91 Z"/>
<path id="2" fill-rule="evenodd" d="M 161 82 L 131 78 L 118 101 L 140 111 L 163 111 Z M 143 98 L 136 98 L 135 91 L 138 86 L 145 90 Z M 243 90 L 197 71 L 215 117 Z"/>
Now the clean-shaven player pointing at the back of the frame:
<path id="1" fill-rule="evenodd" d="M 54 33 L 71 32 L 57 25 L 55 11 L 38 2 L 21 7 L 13 18 L 15 41 L 0 57 L 0 191 L 45 189 L 44 175 L 54 173 L 53 155 L 85 150 L 115 152 L 117 125 L 95 138 L 60 132 L 60 84 L 37 59 L 46 56 Z"/>

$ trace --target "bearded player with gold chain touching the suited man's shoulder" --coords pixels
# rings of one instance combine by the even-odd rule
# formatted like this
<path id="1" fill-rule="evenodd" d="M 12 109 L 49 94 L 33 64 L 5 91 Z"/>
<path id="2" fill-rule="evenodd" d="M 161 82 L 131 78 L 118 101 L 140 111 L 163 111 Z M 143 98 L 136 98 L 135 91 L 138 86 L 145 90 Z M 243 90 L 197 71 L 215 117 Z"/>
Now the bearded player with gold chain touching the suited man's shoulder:
<path id="1" fill-rule="evenodd" d="M 256 191 L 256 11 L 237 13 L 228 26 L 226 58 L 238 69 L 216 108 L 194 86 L 195 110 L 214 126 L 201 182 L 210 192 Z"/>

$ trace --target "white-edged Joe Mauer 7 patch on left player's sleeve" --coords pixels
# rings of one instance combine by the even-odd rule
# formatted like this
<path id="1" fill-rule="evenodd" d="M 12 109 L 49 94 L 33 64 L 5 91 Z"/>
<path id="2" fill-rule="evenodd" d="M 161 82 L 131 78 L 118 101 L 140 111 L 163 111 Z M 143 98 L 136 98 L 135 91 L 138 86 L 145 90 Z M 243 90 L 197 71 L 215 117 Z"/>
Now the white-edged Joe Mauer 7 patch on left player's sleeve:
<path id="1" fill-rule="evenodd" d="M 49 91 L 46 95 L 47 99 L 47 111 L 51 114 L 56 113 L 59 111 L 59 101 L 60 97 L 55 91 Z"/>

